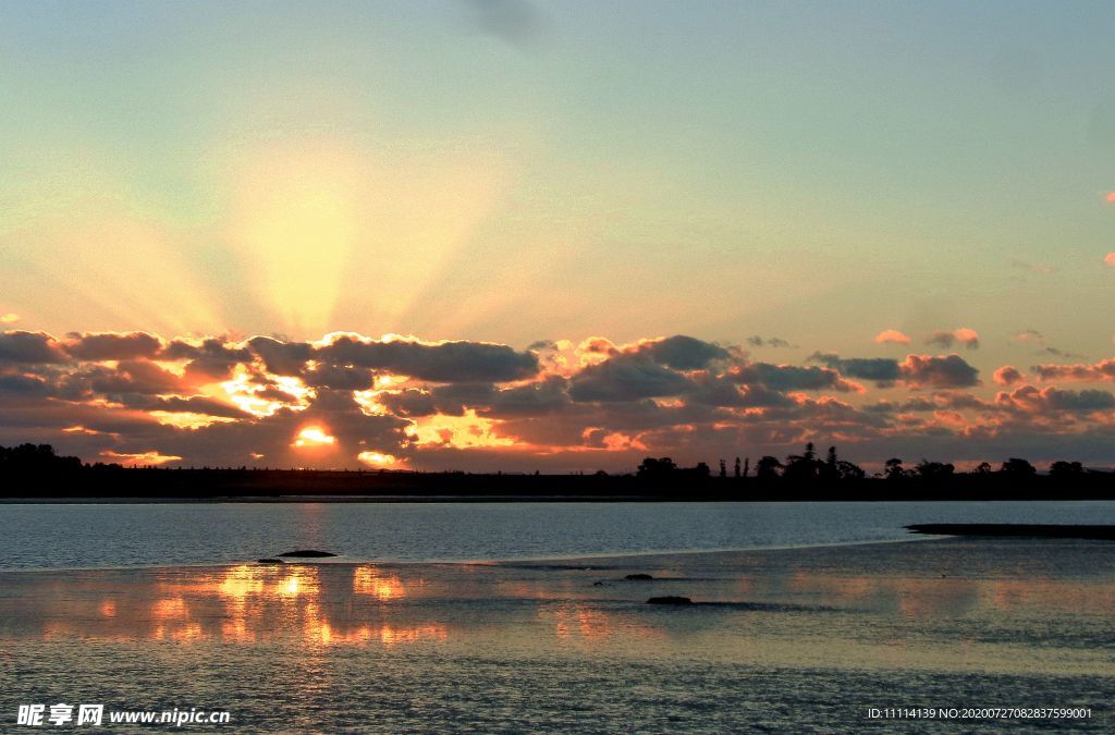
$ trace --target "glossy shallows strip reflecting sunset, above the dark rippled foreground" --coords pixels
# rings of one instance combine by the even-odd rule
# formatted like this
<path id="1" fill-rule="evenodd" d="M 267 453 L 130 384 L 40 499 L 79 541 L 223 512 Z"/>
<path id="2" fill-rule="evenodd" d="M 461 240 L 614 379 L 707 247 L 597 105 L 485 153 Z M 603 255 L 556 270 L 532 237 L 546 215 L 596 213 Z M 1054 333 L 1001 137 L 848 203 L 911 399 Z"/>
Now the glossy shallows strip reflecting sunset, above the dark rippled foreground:
<path id="1" fill-rule="evenodd" d="M 928 561 L 925 549 L 935 554 Z M 0 642 L 275 644 L 306 660 L 334 660 L 329 651 L 346 647 L 445 645 L 437 656 L 699 656 L 758 666 L 983 671 L 1041 666 L 1074 675 L 1111 667 L 1115 572 L 1058 574 L 1045 564 L 1020 573 L 1025 548 L 989 547 L 980 568 L 954 573 L 971 558 L 968 550 L 894 544 L 857 555 L 803 550 L 584 568 L 249 563 L 7 573 L 0 574 Z M 652 580 L 627 579 L 648 570 Z M 648 606 L 651 596 L 712 605 Z"/>

